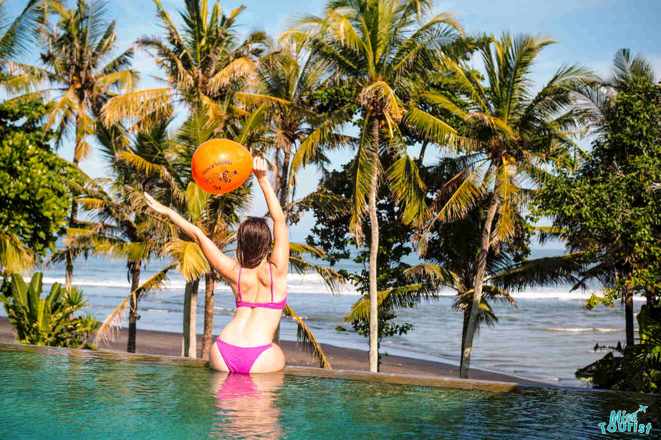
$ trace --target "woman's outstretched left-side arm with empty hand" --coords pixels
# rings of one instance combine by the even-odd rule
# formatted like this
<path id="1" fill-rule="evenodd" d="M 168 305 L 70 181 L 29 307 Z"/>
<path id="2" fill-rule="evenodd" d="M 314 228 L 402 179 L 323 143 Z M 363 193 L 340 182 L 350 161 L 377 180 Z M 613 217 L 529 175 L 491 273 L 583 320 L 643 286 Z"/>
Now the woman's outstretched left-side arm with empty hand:
<path id="1" fill-rule="evenodd" d="M 175 210 L 155 201 L 151 195 L 145 193 L 145 198 L 147 199 L 147 205 L 149 205 L 149 208 L 159 212 L 159 214 L 165 214 L 175 226 L 198 243 L 198 246 L 202 249 L 202 253 L 204 253 L 209 264 L 216 272 L 218 272 L 218 274 L 225 278 L 225 280 L 237 282 L 239 273 L 238 270 L 236 270 L 238 267 L 237 262 L 222 253 L 215 245 L 214 241 L 204 235 L 204 232 L 202 232 L 200 228 L 191 222 L 188 222 L 188 220 L 180 216 Z"/>

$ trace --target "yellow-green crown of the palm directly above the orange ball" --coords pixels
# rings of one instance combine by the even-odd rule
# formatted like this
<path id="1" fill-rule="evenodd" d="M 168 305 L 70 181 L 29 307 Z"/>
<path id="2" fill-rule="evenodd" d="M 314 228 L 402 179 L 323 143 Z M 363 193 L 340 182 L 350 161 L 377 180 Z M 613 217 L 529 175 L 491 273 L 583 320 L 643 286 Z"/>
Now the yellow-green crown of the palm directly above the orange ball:
<path id="1" fill-rule="evenodd" d="M 165 40 L 145 36 L 136 44 L 165 71 L 163 82 L 167 86 L 112 98 L 102 110 L 106 125 L 128 117 L 137 120 L 137 128 L 144 127 L 167 117 L 177 103 L 184 104 L 190 115 L 207 111 L 214 122 L 247 115 L 233 104 L 222 104 L 253 75 L 265 39 L 263 32 L 254 32 L 239 42 L 236 19 L 245 7 L 225 16 L 217 4 L 210 13 L 208 0 L 186 0 L 186 9 L 181 13 L 184 26 L 177 30 L 161 2 L 153 1 Z"/>

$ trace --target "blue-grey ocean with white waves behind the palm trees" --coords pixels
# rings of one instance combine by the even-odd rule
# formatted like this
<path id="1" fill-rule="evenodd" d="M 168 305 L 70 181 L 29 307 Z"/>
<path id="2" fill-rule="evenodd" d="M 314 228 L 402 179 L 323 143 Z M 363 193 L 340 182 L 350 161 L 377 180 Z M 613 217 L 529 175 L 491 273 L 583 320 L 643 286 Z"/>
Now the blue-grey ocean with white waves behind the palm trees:
<path id="1" fill-rule="evenodd" d="M 531 258 L 559 255 L 557 249 L 534 249 Z M 167 265 L 166 260 L 151 261 L 141 272 L 147 280 Z M 342 268 L 336 267 L 336 268 Z M 344 268 L 356 270 L 356 263 Z M 45 290 L 53 282 L 64 283 L 63 265 L 42 268 Z M 169 274 L 168 288 L 139 302 L 138 329 L 180 332 L 184 278 L 175 271 Z M 78 259 L 73 272 L 73 284 L 83 289 L 90 307 L 85 313 L 95 313 L 101 321 L 128 296 L 130 282 L 126 263 L 103 257 Z M 483 326 L 473 344 L 471 367 L 500 371 L 519 377 L 540 379 L 558 385 L 583 386 L 574 372 L 602 358 L 606 352 L 594 352 L 595 344 L 615 346 L 625 340 L 623 305 L 599 306 L 592 311 L 582 309 L 590 292 L 569 292 L 570 286 L 533 288 L 514 292 L 517 307 L 492 303 L 498 317 L 495 327 Z M 402 336 L 393 336 L 381 343 L 381 354 L 393 354 L 444 361 L 459 365 L 462 315 L 451 309 L 453 292 L 442 291 L 438 300 L 422 302 L 418 307 L 397 311 L 396 322 L 412 323 L 413 328 Z M 368 340 L 355 332 L 343 318 L 359 298 L 354 286 L 344 286 L 340 295 L 333 295 L 317 274 L 290 274 L 288 304 L 303 318 L 319 342 L 347 348 L 368 350 Z M 635 298 L 638 313 L 644 298 Z M 215 288 L 214 336 L 233 317 L 234 297 L 229 286 L 219 283 Z M 6 315 L 5 310 L 0 313 Z M 204 282 L 198 293 L 197 330 L 204 323 Z M 637 323 L 636 328 L 637 328 Z M 124 325 L 128 325 L 128 316 Z M 337 332 L 342 325 L 346 332 Z M 281 338 L 296 340 L 296 323 L 284 317 Z"/>

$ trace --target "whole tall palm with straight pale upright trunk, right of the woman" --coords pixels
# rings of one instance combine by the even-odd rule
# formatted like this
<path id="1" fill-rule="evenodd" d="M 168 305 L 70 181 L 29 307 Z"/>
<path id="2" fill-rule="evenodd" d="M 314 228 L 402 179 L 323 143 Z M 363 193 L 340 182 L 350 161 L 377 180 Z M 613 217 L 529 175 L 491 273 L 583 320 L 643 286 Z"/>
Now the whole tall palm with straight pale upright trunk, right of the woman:
<path id="1" fill-rule="evenodd" d="M 393 158 L 385 170 L 392 197 L 404 203 L 406 222 L 424 221 L 424 183 L 417 164 L 408 156 L 401 127 L 435 141 L 455 131 L 446 123 L 420 110 L 412 98 L 420 84 L 444 55 L 446 44 L 461 28 L 448 14 L 423 21 L 432 11 L 430 0 L 339 0 L 327 3 L 324 16 L 303 16 L 285 36 L 305 44 L 311 57 L 318 57 L 327 73 L 351 80 L 357 86 L 356 104 L 362 113 L 362 128 L 354 169 L 351 229 L 358 245 L 364 239 L 362 222 L 369 212 L 370 341 L 369 369 L 377 371 L 376 256 L 379 227 L 376 196 L 383 175 L 379 154 Z M 307 164 L 314 156 L 299 148 L 293 162 Z M 292 166 L 290 174 L 297 171 Z M 366 201 L 368 201 L 366 206 Z"/>

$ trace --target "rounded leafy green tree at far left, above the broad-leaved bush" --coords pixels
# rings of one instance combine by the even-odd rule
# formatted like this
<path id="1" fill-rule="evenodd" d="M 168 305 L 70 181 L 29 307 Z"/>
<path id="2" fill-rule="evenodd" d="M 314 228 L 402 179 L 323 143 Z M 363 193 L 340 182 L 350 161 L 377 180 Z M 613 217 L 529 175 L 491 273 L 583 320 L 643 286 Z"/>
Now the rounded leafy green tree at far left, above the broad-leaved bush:
<path id="1" fill-rule="evenodd" d="M 0 266 L 5 276 L 28 270 L 67 225 L 69 162 L 52 152 L 42 100 L 0 104 Z"/>

